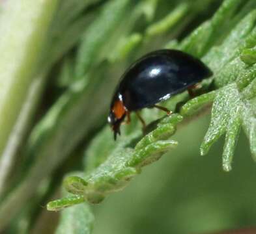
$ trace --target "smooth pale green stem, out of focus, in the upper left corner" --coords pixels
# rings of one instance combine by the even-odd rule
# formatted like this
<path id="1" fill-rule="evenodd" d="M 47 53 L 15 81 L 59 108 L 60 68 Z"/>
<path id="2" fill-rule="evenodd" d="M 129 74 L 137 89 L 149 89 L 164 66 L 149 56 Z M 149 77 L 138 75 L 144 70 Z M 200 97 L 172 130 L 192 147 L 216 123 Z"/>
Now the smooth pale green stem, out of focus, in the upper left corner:
<path id="1" fill-rule="evenodd" d="M 9 0 L 0 15 L 0 155 L 27 96 L 57 0 Z"/>

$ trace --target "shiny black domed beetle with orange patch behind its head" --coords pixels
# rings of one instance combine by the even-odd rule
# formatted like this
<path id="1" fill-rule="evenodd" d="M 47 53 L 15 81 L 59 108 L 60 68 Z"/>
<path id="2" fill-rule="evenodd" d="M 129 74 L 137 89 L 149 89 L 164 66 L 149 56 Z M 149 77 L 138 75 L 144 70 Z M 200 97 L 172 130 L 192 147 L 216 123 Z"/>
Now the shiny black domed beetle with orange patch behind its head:
<path id="1" fill-rule="evenodd" d="M 211 75 L 201 60 L 175 49 L 154 51 L 137 60 L 122 75 L 111 101 L 107 120 L 114 138 L 117 138 L 117 133 L 120 135 L 124 118 L 128 116 L 130 121 L 131 111 L 157 107 L 168 112 L 156 103 L 192 88 Z M 140 116 L 139 119 L 143 122 Z"/>

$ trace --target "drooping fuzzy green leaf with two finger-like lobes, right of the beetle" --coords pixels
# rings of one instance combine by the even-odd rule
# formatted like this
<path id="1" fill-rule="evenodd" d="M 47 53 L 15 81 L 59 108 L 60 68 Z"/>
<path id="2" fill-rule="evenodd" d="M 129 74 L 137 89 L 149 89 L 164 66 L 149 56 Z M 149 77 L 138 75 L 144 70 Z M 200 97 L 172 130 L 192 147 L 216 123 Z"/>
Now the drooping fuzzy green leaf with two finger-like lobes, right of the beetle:
<path id="1" fill-rule="evenodd" d="M 205 155 L 210 146 L 225 133 L 223 153 L 223 169 L 225 171 L 231 170 L 233 152 L 241 125 L 241 111 L 241 96 L 235 84 L 227 85 L 218 90 L 212 105 L 212 120 L 200 150 L 201 154 Z"/>

